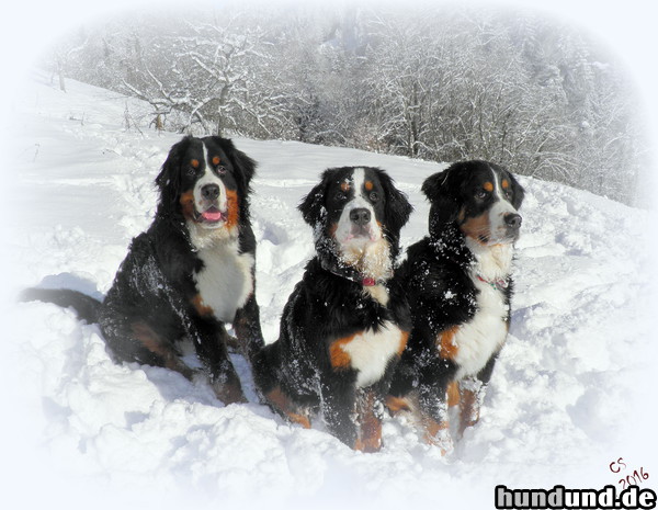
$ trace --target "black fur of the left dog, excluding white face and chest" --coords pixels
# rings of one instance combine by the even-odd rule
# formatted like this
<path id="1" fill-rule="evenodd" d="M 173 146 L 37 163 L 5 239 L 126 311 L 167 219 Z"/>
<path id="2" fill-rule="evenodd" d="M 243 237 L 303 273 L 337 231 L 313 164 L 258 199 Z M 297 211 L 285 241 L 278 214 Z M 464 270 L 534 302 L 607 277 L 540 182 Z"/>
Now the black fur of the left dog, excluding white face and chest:
<path id="1" fill-rule="evenodd" d="M 206 152 L 209 160 L 217 157 L 219 162 L 206 161 Z M 198 298 L 195 277 L 204 269 L 204 261 L 190 226 L 204 219 L 200 218 L 195 200 L 185 201 L 184 196 L 190 196 L 206 171 L 220 179 L 227 195 L 230 191 L 237 196 L 237 204 L 230 205 L 223 216 L 227 230 L 227 218 L 236 220 L 231 237 L 224 242 L 236 243 L 238 253 L 250 253 L 256 259 L 249 223 L 249 183 L 254 170 L 254 161 L 229 139 L 183 138 L 171 148 L 156 179 L 160 192 L 156 217 L 147 231 L 133 239 L 104 301 L 94 302 L 68 290 L 38 288 L 29 290 L 23 299 L 71 306 L 84 320 L 98 321 L 117 361 L 167 366 L 188 377 L 193 371 L 180 360 L 177 342 L 191 339 L 217 396 L 225 403 L 245 400 L 227 354 L 229 337 L 225 325 Z M 237 207 L 237 213 L 231 215 L 231 207 Z M 254 280 L 253 269 L 250 277 Z M 249 355 L 263 345 L 254 282 L 252 285 L 253 291 L 231 319 Z"/>

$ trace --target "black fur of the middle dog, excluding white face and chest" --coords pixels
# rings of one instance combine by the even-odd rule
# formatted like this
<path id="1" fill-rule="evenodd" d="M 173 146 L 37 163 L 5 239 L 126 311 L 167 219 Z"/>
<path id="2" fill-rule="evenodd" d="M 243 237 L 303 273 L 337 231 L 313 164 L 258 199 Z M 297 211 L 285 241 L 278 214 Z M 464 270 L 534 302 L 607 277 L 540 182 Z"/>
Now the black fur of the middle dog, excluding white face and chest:
<path id="1" fill-rule="evenodd" d="M 363 169 L 368 191 L 365 186 L 354 190 L 353 183 L 349 191 L 341 189 L 354 170 L 325 171 L 299 205 L 304 219 L 314 227 L 317 254 L 285 305 L 279 340 L 256 358 L 254 378 L 265 400 L 292 421 L 309 427 L 310 413 L 321 411 L 332 434 L 351 447 L 374 451 L 381 446 L 378 409 L 406 343 L 409 309 L 399 284 L 389 276 L 376 282 L 386 290 L 387 303 L 366 291 L 375 282 L 364 283 L 363 274 L 340 259 L 340 242 L 332 231 L 343 209 L 361 194 L 382 225 L 393 263 L 399 251 L 399 230 L 411 206 L 379 169 Z M 381 333 L 385 324 L 401 331 L 401 348 L 386 360 L 375 381 L 362 382 L 360 387 L 359 370 L 351 359 L 339 359 L 344 352 L 336 342 L 366 331 Z"/>

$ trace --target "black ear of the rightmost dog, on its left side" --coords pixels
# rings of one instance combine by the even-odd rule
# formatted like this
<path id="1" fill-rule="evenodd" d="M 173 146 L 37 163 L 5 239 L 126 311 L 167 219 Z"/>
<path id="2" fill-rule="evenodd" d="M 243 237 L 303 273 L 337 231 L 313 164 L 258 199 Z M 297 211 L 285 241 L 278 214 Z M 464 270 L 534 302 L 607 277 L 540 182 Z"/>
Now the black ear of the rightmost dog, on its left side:
<path id="1" fill-rule="evenodd" d="M 461 170 L 460 163 L 452 165 L 442 172 L 430 175 L 422 184 L 432 207 L 430 209 L 430 229 L 453 223 L 460 215 L 461 199 L 454 175 Z"/>

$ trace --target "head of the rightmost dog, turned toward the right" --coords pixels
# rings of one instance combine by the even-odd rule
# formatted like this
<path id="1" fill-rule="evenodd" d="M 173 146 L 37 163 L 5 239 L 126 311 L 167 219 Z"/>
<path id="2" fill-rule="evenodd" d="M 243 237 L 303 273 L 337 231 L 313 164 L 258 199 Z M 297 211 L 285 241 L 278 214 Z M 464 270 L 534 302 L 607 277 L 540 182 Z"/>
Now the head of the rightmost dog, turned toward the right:
<path id="1" fill-rule="evenodd" d="M 463 161 L 429 177 L 422 191 L 430 200 L 430 233 L 438 237 L 456 223 L 465 236 L 484 246 L 519 238 L 519 208 L 524 191 L 504 168 L 487 161 Z"/>

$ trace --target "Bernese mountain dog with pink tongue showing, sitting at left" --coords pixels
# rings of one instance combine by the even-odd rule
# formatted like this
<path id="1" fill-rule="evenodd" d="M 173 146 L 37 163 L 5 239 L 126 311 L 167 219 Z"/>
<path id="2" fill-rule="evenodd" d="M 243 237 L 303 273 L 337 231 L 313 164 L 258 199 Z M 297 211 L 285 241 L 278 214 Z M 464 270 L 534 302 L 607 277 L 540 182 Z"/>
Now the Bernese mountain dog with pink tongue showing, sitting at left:
<path id="1" fill-rule="evenodd" d="M 256 163 L 217 136 L 175 144 L 156 185 L 156 217 L 133 239 L 103 302 L 70 290 L 32 288 L 22 298 L 73 307 L 98 322 L 117 361 L 164 366 L 191 378 L 178 341 L 192 340 L 217 397 L 246 401 L 225 324 L 242 352 L 263 345 L 256 301 L 256 239 L 249 183 Z"/>

